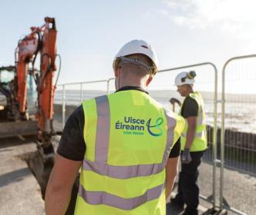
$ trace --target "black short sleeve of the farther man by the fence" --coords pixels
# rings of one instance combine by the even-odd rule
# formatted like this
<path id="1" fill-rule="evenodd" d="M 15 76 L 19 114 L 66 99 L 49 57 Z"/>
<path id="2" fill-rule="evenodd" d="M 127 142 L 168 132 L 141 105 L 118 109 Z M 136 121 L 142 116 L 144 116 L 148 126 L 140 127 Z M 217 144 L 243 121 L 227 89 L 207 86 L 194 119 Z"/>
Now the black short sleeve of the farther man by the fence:
<path id="1" fill-rule="evenodd" d="M 193 98 L 189 96 L 185 98 L 184 104 L 181 109 L 181 115 L 184 118 L 187 117 L 197 117 L 198 116 L 198 104 Z"/>

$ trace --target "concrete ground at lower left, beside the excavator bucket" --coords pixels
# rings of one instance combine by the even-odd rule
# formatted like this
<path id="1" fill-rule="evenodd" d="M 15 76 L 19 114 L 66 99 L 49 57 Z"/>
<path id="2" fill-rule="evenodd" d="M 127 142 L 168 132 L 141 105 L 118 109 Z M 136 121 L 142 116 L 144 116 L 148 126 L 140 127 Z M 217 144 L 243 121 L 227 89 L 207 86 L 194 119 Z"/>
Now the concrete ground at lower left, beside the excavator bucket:
<path id="1" fill-rule="evenodd" d="M 44 202 L 39 184 L 20 155 L 35 151 L 32 140 L 0 139 L 0 214 L 41 215 Z"/>

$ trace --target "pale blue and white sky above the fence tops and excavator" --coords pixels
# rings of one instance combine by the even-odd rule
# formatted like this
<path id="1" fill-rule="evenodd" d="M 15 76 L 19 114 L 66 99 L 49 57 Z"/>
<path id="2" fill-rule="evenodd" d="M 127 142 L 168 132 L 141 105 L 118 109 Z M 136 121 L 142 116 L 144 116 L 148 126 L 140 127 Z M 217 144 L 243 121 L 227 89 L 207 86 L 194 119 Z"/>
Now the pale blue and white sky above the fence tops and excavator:
<path id="1" fill-rule="evenodd" d="M 31 26 L 56 18 L 59 84 L 113 77 L 113 57 L 132 39 L 157 51 L 160 69 L 256 53 L 254 0 L 1 0 L 0 66 Z"/>

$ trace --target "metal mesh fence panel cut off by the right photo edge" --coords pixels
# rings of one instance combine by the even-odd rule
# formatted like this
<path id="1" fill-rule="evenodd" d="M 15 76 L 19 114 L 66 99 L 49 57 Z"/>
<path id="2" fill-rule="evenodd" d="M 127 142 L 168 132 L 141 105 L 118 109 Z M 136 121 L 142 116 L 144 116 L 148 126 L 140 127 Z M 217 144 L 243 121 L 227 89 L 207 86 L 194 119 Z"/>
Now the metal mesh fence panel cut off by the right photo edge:
<path id="1" fill-rule="evenodd" d="M 221 157 L 225 163 L 221 164 L 220 201 L 222 205 L 227 200 L 231 210 L 248 214 L 256 211 L 255 70 L 256 55 L 231 58 L 224 64 L 222 80 Z"/>

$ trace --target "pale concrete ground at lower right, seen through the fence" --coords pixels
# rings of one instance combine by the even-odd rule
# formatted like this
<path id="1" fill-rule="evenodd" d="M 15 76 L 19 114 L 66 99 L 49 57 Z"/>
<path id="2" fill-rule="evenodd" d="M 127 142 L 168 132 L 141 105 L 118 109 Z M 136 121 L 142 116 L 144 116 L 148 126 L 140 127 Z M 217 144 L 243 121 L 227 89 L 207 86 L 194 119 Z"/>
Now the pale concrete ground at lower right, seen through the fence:
<path id="1" fill-rule="evenodd" d="M 217 168 L 217 203 L 220 194 L 220 168 Z M 212 194 L 212 166 L 202 163 L 198 180 L 200 194 L 208 197 Z M 224 169 L 224 198 L 230 207 L 248 215 L 256 214 L 256 177 L 236 170 Z M 230 214 L 237 214 L 229 211 Z"/>

